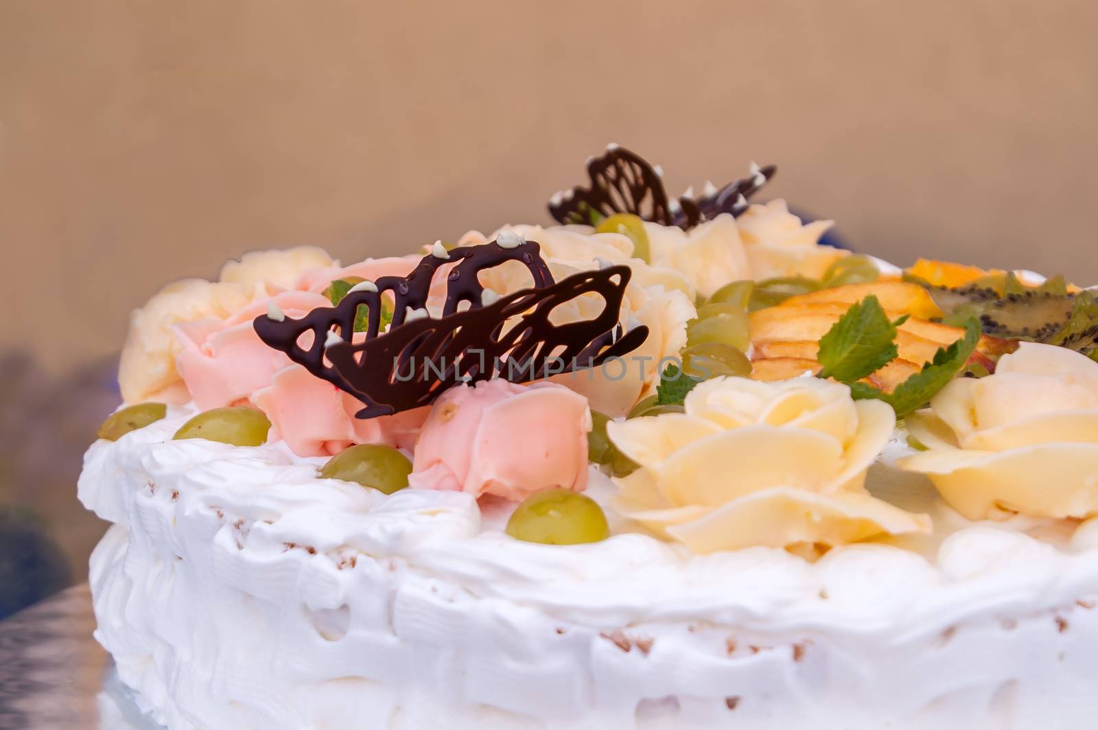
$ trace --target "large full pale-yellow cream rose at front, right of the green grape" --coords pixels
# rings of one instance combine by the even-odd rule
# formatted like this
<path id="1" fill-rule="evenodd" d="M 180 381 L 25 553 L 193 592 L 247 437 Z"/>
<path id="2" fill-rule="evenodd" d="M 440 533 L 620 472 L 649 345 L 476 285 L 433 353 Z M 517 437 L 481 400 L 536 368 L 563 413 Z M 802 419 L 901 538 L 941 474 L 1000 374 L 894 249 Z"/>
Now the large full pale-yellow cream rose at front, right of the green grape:
<path id="1" fill-rule="evenodd" d="M 927 532 L 930 519 L 866 492 L 865 473 L 893 434 L 881 401 L 816 378 L 714 378 L 685 413 L 612 422 L 615 446 L 640 464 L 616 480 L 615 506 L 695 552 L 802 549 L 882 534 Z"/>

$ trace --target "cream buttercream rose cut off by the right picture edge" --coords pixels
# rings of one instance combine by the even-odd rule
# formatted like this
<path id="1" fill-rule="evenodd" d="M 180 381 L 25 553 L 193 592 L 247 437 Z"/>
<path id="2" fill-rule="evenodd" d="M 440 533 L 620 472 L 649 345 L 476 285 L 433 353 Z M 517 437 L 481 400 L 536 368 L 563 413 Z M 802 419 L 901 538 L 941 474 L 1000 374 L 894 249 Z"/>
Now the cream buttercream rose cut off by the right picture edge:
<path id="1" fill-rule="evenodd" d="M 994 375 L 954 380 L 908 416 L 928 451 L 903 459 L 970 519 L 1098 515 L 1098 362 L 1022 342 Z"/>

